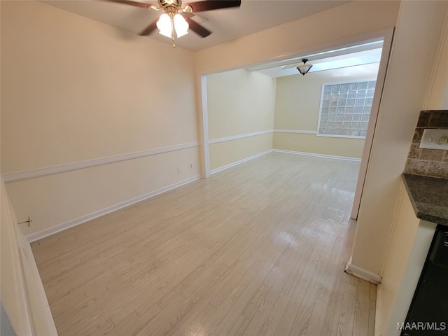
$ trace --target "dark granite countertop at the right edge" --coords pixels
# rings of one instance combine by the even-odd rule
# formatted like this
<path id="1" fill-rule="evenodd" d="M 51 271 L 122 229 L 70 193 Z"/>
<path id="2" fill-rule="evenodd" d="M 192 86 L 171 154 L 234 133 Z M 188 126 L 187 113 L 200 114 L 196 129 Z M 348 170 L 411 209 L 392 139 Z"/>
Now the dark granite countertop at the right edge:
<path id="1" fill-rule="evenodd" d="M 417 218 L 448 226 L 448 179 L 402 174 Z"/>

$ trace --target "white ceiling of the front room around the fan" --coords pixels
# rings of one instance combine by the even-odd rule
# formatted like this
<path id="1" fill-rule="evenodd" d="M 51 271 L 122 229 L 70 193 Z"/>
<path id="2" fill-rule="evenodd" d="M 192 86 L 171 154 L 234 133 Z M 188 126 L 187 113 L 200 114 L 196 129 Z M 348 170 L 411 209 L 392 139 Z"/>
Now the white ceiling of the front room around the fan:
<path id="1" fill-rule="evenodd" d="M 135 0 L 158 5 L 157 0 Z M 197 0 L 184 0 L 183 6 Z M 213 1 L 213 0 L 210 0 Z M 41 1 L 71 13 L 82 15 L 92 20 L 119 27 L 134 34 L 139 34 L 155 20 L 160 13 L 123 3 L 104 0 L 50 0 Z M 195 19 L 205 28 L 212 31 L 210 36 L 201 38 L 195 32 L 179 38 L 176 45 L 188 50 L 202 50 L 214 45 L 235 40 L 241 36 L 253 34 L 283 23 L 294 21 L 305 16 L 339 6 L 348 1 L 339 0 L 242 0 L 239 8 L 226 8 L 201 12 Z M 154 31 L 150 36 L 172 44 L 172 41 Z"/>

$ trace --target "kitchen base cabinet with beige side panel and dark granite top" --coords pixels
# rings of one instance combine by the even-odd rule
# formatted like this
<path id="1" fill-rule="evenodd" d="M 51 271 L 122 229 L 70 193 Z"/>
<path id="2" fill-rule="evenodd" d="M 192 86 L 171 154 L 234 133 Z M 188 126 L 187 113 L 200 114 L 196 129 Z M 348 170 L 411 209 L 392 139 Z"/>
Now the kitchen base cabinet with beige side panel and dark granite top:
<path id="1" fill-rule="evenodd" d="M 375 335 L 400 336 L 405 327 L 437 224 L 448 228 L 447 193 L 448 179 L 403 174 L 393 233 L 377 289 Z"/>

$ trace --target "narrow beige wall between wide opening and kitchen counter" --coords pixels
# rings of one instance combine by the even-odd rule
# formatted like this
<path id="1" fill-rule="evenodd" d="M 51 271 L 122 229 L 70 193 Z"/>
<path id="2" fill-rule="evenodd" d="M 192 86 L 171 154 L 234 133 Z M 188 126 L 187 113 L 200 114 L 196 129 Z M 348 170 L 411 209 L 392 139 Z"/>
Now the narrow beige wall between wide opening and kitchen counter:
<path id="1" fill-rule="evenodd" d="M 437 69 L 447 11 L 447 1 L 403 1 L 400 8 L 351 260 L 374 274 L 382 273 L 401 174 L 416 120 L 428 107 L 428 89 L 434 80 L 433 69 L 415 69 L 414 64 L 432 64 Z"/>

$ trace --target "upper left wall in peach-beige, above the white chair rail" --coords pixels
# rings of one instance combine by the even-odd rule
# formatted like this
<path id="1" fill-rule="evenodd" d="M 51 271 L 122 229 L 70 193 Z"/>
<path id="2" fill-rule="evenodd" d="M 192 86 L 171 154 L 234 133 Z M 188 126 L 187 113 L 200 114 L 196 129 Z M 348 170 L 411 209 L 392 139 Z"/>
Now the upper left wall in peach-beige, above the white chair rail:
<path id="1" fill-rule="evenodd" d="M 39 2 L 1 6 L 2 174 L 197 140 L 193 52 Z"/>

